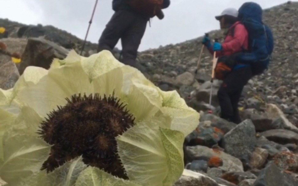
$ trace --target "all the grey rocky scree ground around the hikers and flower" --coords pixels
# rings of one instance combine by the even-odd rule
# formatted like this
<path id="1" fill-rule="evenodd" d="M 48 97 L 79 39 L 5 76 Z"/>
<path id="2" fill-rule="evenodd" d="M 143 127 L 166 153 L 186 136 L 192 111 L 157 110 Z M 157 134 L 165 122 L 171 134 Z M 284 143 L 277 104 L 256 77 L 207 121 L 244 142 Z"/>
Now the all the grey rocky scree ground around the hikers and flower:
<path id="1" fill-rule="evenodd" d="M 198 127 L 185 138 L 185 170 L 175 186 L 298 186 L 298 23 L 291 21 L 298 17 L 297 10 L 298 2 L 265 10 L 264 22 L 275 36 L 273 62 L 245 87 L 239 105 L 243 122 L 238 125 L 218 117 L 220 81 L 214 82 L 208 104 L 212 55 L 206 50 L 194 74 L 202 37 L 139 52 L 148 78 L 163 90 L 178 90 L 201 113 Z M 54 57 L 63 59 L 71 48 L 79 52 L 83 42 L 52 26 L 28 27 L 3 19 L 0 26 L 8 31 L 0 42 L 22 55 L 17 65 L 0 55 L 2 89 L 13 87 L 27 66 L 48 68 Z M 223 39 L 222 31 L 209 34 Z M 96 44 L 87 43 L 85 49 L 88 56 Z"/>

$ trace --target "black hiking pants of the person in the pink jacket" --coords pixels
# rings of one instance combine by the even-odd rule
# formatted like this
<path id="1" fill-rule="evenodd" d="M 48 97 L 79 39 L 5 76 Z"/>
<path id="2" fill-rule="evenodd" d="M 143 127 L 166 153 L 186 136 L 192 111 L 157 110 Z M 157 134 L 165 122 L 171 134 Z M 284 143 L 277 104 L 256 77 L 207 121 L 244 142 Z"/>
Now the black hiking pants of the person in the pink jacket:
<path id="1" fill-rule="evenodd" d="M 252 78 L 250 66 L 244 66 L 231 71 L 223 80 L 217 92 L 219 99 L 221 118 L 239 124 L 241 122 L 238 110 L 238 102 L 243 87 Z"/>

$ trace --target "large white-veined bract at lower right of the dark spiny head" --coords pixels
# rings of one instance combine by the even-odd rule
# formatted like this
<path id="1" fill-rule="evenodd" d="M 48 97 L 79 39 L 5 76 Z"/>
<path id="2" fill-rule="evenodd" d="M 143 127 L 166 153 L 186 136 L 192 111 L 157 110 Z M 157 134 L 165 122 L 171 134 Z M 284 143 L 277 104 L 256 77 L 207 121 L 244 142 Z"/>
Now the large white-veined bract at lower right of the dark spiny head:
<path id="1" fill-rule="evenodd" d="M 116 140 L 118 154 L 133 182 L 142 186 L 172 186 L 181 176 L 181 132 L 162 129 L 151 119 L 138 123 Z"/>

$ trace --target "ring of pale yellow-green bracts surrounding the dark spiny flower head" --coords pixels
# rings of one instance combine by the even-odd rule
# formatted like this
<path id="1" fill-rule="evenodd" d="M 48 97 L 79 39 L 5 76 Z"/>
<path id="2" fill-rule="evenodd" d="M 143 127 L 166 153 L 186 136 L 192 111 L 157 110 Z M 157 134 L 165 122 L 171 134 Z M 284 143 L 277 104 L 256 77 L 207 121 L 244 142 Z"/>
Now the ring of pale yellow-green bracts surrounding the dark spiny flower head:
<path id="1" fill-rule="evenodd" d="M 38 127 L 78 93 L 114 93 L 135 116 L 137 124 L 117 137 L 129 180 L 87 167 L 81 157 L 52 173 L 40 171 L 51 146 L 36 134 Z M 0 105 L 0 177 L 9 186 L 172 186 L 184 169 L 184 138 L 200 117 L 176 91 L 160 90 L 109 51 L 90 57 L 70 51 L 49 70 L 29 66 L 12 89 L 0 90 Z"/>

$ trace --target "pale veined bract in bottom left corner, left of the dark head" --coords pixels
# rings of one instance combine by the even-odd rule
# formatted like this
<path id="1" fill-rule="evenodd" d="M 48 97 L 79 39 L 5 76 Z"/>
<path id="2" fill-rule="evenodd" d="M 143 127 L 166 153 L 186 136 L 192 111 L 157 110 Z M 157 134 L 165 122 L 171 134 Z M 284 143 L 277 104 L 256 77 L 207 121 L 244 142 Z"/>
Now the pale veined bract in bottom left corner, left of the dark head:
<path id="1" fill-rule="evenodd" d="M 4 134 L 3 147 L 4 163 L 0 168 L 0 177 L 9 185 L 19 185 L 39 174 L 50 152 L 50 146 L 42 139 L 18 129 Z"/>

